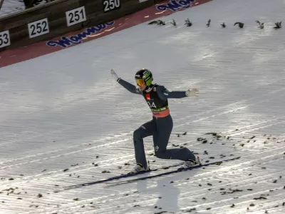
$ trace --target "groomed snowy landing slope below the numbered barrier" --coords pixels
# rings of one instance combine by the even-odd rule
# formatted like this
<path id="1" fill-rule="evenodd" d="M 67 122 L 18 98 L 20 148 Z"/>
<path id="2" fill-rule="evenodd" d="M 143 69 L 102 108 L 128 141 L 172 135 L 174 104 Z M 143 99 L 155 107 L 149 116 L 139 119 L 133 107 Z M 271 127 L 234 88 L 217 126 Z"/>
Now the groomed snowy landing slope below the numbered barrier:
<path id="1" fill-rule="evenodd" d="M 162 18 L 167 26 L 140 24 L 0 68 L 1 213 L 285 213 L 285 39 L 273 29 L 284 9 L 281 0 L 215 0 Z M 133 168 L 133 131 L 151 114 L 109 72 L 134 83 L 142 67 L 169 89 L 200 90 L 169 101 L 170 148 L 187 146 L 202 162 L 242 158 L 54 193 Z M 151 138 L 145 151 L 152 168 L 177 163 L 153 157 Z"/>

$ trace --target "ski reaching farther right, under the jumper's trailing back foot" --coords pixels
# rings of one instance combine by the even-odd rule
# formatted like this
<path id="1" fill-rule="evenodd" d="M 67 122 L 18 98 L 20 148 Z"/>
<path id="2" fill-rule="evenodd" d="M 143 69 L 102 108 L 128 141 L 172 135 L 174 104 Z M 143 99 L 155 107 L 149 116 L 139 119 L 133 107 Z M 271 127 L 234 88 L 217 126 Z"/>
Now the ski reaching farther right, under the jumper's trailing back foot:
<path id="1" fill-rule="evenodd" d="M 149 176 L 145 176 L 145 177 L 142 177 L 142 178 L 133 178 L 133 179 L 129 179 L 129 180 L 120 180 L 120 181 L 115 181 L 115 182 L 111 182 L 111 183 L 107 183 L 107 184 L 119 185 L 119 184 L 123 184 L 123 183 L 132 183 L 132 182 L 138 181 L 138 180 L 146 180 L 146 179 L 149 179 L 149 178 L 157 178 L 157 177 L 160 177 L 160 176 L 163 176 L 163 175 L 170 175 L 170 174 L 179 173 L 179 172 L 186 171 L 186 170 L 192 170 L 192 169 L 195 169 L 195 168 L 201 168 L 201 167 L 206 167 L 206 166 L 209 166 L 209 165 L 219 164 L 219 163 L 222 163 L 222 162 L 234 161 L 234 160 L 237 160 L 239 158 L 241 158 L 241 157 L 239 156 L 239 157 L 230 158 L 230 159 L 226 159 L 226 160 L 222 160 L 222 161 L 216 161 L 216 162 L 212 162 L 212 163 L 193 165 L 193 166 L 191 166 L 189 168 L 178 168 L 177 170 L 171 170 L 171 171 L 168 171 L 166 173 L 159 173 L 157 175 L 149 175 Z"/>

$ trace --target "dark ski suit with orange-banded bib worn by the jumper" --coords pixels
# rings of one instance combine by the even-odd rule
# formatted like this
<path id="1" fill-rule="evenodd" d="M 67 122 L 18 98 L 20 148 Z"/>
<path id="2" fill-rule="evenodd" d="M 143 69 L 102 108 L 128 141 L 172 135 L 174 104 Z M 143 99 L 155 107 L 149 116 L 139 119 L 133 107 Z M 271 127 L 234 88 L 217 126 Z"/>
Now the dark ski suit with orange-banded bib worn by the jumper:
<path id="1" fill-rule="evenodd" d="M 147 86 L 145 91 L 140 91 L 139 88 L 121 78 L 118 78 L 118 83 L 131 93 L 142 95 L 152 111 L 152 120 L 140 126 L 133 133 L 136 162 L 147 168 L 143 138 L 148 136 L 152 136 L 153 138 L 155 156 L 157 158 L 181 161 L 191 159 L 192 161 L 196 161 L 195 156 L 188 148 L 167 149 L 170 133 L 173 128 L 167 98 L 185 98 L 187 97 L 185 91 L 168 91 L 164 86 L 158 86 L 157 84 L 151 84 Z"/>

